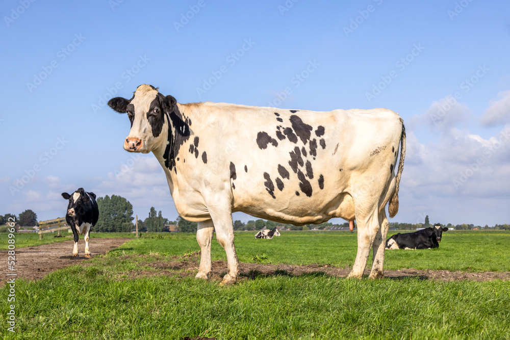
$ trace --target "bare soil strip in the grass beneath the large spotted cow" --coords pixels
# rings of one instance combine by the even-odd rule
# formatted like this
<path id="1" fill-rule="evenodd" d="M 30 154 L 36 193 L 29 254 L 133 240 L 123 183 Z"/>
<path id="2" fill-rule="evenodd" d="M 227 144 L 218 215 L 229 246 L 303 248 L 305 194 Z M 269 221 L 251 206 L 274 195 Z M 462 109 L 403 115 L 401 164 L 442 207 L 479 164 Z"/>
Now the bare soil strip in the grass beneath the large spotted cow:
<path id="1" fill-rule="evenodd" d="M 132 255 L 125 255 L 132 257 Z M 195 276 L 198 272 L 199 256 L 174 258 L 171 261 L 153 261 L 144 262 L 143 265 L 150 267 L 152 270 L 137 270 L 129 273 L 129 277 L 143 277 L 143 276 L 180 276 L 188 277 Z M 239 274 L 238 282 L 254 279 L 257 277 L 268 277 L 277 275 L 287 276 L 334 276 L 334 277 L 347 277 L 351 268 L 338 268 L 331 265 L 312 264 L 307 266 L 295 265 L 271 265 L 259 263 L 241 263 L 241 272 Z M 226 261 L 219 260 L 213 262 L 213 276 L 212 280 L 221 281 L 223 276 L 227 273 Z M 365 270 L 365 275 L 368 276 L 370 270 Z M 386 278 L 400 280 L 405 278 L 418 278 L 420 280 L 435 280 L 435 281 L 491 281 L 491 280 L 510 280 L 510 272 L 451 272 L 448 270 L 416 270 L 416 269 L 402 269 L 402 270 L 385 270 L 384 275 Z"/>

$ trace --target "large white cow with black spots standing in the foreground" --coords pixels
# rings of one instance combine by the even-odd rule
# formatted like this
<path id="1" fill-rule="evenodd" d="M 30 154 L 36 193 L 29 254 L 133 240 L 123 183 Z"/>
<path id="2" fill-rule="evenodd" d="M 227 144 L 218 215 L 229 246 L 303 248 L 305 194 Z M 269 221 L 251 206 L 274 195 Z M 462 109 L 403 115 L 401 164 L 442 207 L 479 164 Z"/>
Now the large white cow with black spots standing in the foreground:
<path id="1" fill-rule="evenodd" d="M 398 212 L 405 155 L 405 128 L 397 113 L 182 104 L 146 84 L 131 99 L 115 97 L 108 105 L 131 122 L 124 149 L 154 153 L 177 212 L 198 222 L 196 278 L 212 276 L 216 231 L 227 256 L 221 284 L 236 282 L 233 212 L 298 226 L 356 219 L 358 253 L 349 277 L 363 276 L 371 247 L 369 277 L 383 276 L 385 207 L 389 203 L 390 217 Z"/>

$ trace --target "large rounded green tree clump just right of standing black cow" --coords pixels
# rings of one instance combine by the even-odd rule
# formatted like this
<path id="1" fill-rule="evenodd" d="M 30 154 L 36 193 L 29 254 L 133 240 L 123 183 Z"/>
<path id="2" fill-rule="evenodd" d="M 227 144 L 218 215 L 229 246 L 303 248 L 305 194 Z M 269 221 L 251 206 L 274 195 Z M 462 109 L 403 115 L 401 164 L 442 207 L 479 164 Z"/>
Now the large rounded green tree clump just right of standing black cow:
<path id="1" fill-rule="evenodd" d="M 124 197 L 106 195 L 97 200 L 99 219 L 94 227 L 97 232 L 131 232 L 133 230 L 133 205 Z"/>

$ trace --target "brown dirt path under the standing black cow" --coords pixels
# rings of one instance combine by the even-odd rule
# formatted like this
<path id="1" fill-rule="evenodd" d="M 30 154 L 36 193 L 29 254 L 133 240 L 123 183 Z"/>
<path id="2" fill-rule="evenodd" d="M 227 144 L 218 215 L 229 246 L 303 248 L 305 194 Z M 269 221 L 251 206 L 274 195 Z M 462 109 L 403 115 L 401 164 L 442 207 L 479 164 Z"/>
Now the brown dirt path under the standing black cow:
<path id="1" fill-rule="evenodd" d="M 109 250 L 115 249 L 129 240 L 132 239 L 94 238 L 90 242 L 91 258 L 97 254 L 104 254 Z M 85 242 L 83 240 L 80 240 L 78 243 L 79 257 L 71 255 L 73 244 L 74 242 L 70 240 L 16 249 L 16 271 L 9 271 L 9 273 L 16 273 L 17 276 L 7 276 L 8 271 L 5 268 L 0 276 L 0 284 L 3 284 L 4 281 L 11 277 L 30 280 L 41 279 L 44 275 L 57 269 L 84 264 L 90 260 L 90 258 L 84 256 Z M 0 258 L 7 261 L 7 250 L 0 253 Z"/>

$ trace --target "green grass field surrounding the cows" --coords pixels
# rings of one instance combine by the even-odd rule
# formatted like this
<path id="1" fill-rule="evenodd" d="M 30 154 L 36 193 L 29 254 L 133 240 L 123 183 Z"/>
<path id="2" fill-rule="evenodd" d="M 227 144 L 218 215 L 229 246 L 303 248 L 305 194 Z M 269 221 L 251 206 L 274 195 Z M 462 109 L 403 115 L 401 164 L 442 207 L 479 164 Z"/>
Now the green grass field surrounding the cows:
<path id="1" fill-rule="evenodd" d="M 356 236 L 350 232 L 286 232 L 273 240 L 256 240 L 253 234 L 236 234 L 241 262 L 264 254 L 273 264 L 347 267 L 356 254 Z M 387 251 L 385 268 L 510 271 L 508 244 L 505 231 L 448 231 L 439 249 Z M 17 332 L 8 334 L 3 325 L 1 334 L 52 339 L 510 338 L 509 281 L 372 281 L 312 273 L 256 277 L 223 287 L 192 277 L 126 275 L 143 269 L 143 261 L 175 261 L 198 250 L 194 234 L 144 234 L 96 256 L 91 266 L 68 267 L 36 282 L 16 280 Z M 226 260 L 217 242 L 212 253 L 213 261 Z M 137 254 L 145 254 L 142 263 Z M 2 287 L 0 294 L 7 296 L 8 289 Z M 6 305 L 0 307 L 3 320 Z"/>

